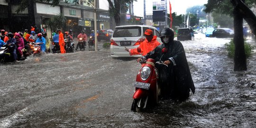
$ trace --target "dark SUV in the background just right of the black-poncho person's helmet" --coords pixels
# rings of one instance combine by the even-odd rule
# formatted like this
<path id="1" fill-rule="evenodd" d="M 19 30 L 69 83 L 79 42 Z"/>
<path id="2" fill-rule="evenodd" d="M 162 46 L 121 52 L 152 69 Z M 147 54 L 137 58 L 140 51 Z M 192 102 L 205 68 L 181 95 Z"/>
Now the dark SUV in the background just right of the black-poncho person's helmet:
<path id="1" fill-rule="evenodd" d="M 177 40 L 192 40 L 194 38 L 194 31 L 192 28 L 179 28 Z"/>

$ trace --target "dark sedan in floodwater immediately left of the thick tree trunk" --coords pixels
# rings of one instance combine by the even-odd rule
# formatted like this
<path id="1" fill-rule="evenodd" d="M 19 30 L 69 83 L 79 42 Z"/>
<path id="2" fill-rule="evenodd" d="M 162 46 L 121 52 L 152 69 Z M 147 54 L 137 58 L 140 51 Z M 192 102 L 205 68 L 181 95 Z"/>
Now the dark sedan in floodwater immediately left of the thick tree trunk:
<path id="1" fill-rule="evenodd" d="M 212 37 L 232 38 L 234 37 L 234 31 L 230 28 L 217 28 L 212 32 Z"/>

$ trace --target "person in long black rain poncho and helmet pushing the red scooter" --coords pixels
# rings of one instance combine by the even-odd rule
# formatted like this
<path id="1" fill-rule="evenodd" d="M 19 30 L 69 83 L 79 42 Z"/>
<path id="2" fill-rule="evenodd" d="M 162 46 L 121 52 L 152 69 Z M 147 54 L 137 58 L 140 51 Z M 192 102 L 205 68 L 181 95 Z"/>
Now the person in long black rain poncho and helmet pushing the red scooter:
<path id="1" fill-rule="evenodd" d="M 155 62 L 162 58 L 161 61 L 168 65 L 168 67 L 156 66 L 159 71 L 160 85 L 167 92 L 165 92 L 167 97 L 185 101 L 190 95 L 190 89 L 192 93 L 195 92 L 195 86 L 183 45 L 180 41 L 174 40 L 174 31 L 169 27 L 165 27 L 160 31 L 160 37 L 163 44 L 147 53 L 145 57 L 146 59 L 153 58 Z M 163 48 L 167 49 L 165 53 L 162 52 Z"/>

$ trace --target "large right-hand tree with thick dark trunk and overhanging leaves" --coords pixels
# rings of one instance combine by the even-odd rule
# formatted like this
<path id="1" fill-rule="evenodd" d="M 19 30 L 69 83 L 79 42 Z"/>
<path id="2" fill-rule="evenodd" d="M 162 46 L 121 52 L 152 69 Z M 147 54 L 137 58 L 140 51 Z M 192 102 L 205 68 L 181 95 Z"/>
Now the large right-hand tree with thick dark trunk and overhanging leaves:
<path id="1" fill-rule="evenodd" d="M 256 30 L 256 18 L 248 7 L 255 6 L 256 0 L 247 0 L 247 6 L 244 4 L 245 0 L 208 0 L 205 4 L 205 12 L 217 12 L 220 14 L 228 14 L 234 17 L 234 44 L 235 44 L 235 56 L 234 56 L 234 71 L 246 71 L 246 55 L 244 49 L 244 37 L 243 37 L 243 18 L 247 19 L 247 23 L 251 24 L 253 30 Z M 243 16 L 245 15 L 245 16 Z M 254 18 L 252 18 L 254 16 Z M 255 31 L 254 31 L 255 32 Z"/>

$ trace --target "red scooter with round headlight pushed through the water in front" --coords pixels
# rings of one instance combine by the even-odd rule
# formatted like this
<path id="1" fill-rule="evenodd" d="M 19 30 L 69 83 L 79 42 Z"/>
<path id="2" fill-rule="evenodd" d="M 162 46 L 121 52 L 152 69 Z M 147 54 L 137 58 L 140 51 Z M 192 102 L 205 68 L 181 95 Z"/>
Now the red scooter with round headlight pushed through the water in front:
<path id="1" fill-rule="evenodd" d="M 140 52 L 140 48 L 137 48 L 137 51 Z M 167 49 L 163 48 L 163 55 L 166 52 Z M 157 83 L 158 70 L 155 68 L 155 64 L 163 64 L 161 58 L 159 62 L 155 62 L 154 59 L 149 58 L 146 60 L 146 58 L 142 56 L 142 61 L 140 61 L 142 67 L 137 73 L 136 82 L 134 84 L 135 93 L 133 94 L 132 111 L 137 111 L 137 109 L 143 110 L 147 105 L 156 105 L 158 103 L 161 88 Z M 167 66 L 166 64 L 164 65 Z"/>

